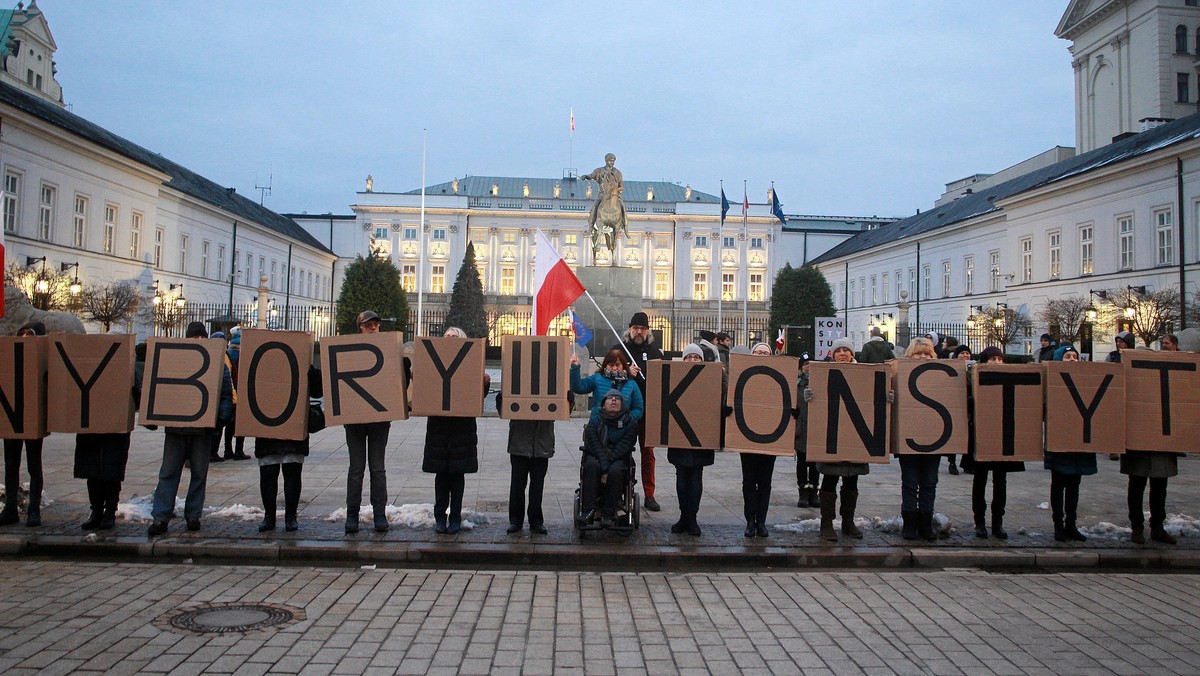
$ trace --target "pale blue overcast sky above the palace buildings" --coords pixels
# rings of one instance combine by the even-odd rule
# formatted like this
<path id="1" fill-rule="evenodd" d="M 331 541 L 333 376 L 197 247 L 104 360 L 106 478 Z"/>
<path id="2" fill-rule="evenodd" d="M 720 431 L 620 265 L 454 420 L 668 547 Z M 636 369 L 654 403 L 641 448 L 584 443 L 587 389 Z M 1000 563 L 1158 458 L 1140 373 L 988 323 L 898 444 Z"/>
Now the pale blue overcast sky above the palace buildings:
<path id="1" fill-rule="evenodd" d="M 276 211 L 463 175 L 896 215 L 1074 145 L 1066 0 L 40 0 L 72 112 Z M 569 114 L 575 109 L 574 151 Z M 574 156 L 574 160 L 571 158 Z"/>

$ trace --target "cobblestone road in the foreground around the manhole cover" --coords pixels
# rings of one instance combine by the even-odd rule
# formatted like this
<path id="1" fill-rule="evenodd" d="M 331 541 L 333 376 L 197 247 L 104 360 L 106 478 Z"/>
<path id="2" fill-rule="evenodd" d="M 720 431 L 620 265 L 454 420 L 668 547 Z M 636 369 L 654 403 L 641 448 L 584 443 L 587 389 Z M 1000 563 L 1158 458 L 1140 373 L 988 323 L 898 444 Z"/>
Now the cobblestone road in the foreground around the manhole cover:
<path id="1" fill-rule="evenodd" d="M 215 602 L 302 611 L 192 633 Z M 0 672 L 1195 674 L 1177 574 L 5 564 Z M 156 620 L 158 620 L 156 622 Z"/>

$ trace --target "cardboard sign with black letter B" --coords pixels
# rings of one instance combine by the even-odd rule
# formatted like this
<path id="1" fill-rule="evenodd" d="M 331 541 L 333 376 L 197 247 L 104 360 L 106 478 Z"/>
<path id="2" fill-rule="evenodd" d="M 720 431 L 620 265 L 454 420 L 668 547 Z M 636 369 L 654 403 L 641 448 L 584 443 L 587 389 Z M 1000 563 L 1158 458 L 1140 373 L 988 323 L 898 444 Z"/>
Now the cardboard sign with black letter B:
<path id="1" fill-rule="evenodd" d="M 223 372 L 223 340 L 151 336 L 142 377 L 140 423 L 215 427 Z"/>

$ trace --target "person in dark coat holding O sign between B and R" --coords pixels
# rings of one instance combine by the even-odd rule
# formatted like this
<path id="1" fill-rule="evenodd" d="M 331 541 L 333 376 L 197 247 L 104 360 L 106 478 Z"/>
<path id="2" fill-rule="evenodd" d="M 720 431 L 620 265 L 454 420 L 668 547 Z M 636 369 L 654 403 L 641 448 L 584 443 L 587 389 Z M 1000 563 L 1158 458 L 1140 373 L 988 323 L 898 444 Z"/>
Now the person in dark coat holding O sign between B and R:
<path id="1" fill-rule="evenodd" d="M 308 396 L 322 396 L 320 371 L 308 367 Z M 263 522 L 259 533 L 275 530 L 277 499 L 280 493 L 280 473 L 283 473 L 283 527 L 288 532 L 300 528 L 298 513 L 300 510 L 300 473 L 304 459 L 308 456 L 308 430 L 302 439 L 254 438 L 254 457 L 258 460 L 258 491 L 263 498 Z"/>

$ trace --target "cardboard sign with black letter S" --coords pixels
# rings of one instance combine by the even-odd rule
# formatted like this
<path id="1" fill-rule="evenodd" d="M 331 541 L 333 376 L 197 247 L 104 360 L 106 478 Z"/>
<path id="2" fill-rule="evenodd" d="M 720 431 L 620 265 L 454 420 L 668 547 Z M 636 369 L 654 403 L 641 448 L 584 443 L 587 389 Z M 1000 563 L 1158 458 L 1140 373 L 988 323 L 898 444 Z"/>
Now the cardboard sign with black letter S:
<path id="1" fill-rule="evenodd" d="M 898 359 L 892 453 L 967 451 L 967 367 L 959 359 Z"/>

